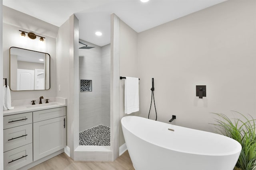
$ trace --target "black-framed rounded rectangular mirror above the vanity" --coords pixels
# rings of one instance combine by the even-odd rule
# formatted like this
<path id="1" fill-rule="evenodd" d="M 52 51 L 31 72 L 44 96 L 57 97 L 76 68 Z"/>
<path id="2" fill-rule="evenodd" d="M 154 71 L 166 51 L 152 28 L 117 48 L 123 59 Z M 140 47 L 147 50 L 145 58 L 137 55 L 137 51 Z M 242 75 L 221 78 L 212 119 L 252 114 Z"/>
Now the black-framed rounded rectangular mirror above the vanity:
<path id="1" fill-rule="evenodd" d="M 10 89 L 12 91 L 49 90 L 50 55 L 10 47 Z"/>

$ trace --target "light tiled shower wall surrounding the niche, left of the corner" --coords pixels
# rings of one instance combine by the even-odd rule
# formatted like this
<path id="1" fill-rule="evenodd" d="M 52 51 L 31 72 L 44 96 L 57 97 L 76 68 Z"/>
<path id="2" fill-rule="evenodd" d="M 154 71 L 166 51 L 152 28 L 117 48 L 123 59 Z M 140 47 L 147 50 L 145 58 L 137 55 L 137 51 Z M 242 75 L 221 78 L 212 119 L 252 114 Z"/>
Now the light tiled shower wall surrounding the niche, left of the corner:
<path id="1" fill-rule="evenodd" d="M 82 42 L 94 48 L 79 49 L 79 82 L 92 80 L 92 92 L 79 92 L 80 132 L 101 124 L 102 97 L 101 47 L 86 41 Z M 84 45 L 79 44 L 79 47 L 82 46 Z"/>

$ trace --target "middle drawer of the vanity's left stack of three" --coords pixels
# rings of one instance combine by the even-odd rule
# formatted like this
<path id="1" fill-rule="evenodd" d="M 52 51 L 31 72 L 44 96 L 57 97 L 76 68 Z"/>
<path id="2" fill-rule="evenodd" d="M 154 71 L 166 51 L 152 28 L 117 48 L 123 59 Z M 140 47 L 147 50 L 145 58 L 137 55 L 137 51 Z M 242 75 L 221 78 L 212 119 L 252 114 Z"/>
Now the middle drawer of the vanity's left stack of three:
<path id="1" fill-rule="evenodd" d="M 32 143 L 32 123 L 4 129 L 4 152 Z"/>

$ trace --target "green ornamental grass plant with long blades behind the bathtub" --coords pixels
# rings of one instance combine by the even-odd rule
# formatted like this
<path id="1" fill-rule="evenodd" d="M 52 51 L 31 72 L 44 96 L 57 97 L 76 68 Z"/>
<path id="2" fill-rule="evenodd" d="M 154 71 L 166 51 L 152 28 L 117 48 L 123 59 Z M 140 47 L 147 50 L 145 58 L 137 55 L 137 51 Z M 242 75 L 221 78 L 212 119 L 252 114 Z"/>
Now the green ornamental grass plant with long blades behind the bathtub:
<path id="1" fill-rule="evenodd" d="M 242 150 L 234 170 L 256 170 L 256 119 L 250 115 L 250 119 L 242 113 L 234 111 L 239 117 L 229 119 L 222 113 L 213 113 L 218 118 L 215 118 L 215 123 L 211 123 L 216 127 L 218 133 L 230 137 L 238 141 Z"/>

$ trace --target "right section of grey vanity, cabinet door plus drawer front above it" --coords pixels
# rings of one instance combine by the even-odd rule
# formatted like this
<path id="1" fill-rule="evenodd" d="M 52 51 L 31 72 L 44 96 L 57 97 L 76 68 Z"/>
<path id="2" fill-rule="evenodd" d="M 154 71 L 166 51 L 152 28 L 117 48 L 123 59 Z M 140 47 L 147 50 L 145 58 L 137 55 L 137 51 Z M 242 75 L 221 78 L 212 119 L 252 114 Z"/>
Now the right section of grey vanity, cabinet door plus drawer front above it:
<path id="1" fill-rule="evenodd" d="M 34 161 L 66 146 L 66 107 L 33 112 L 33 144 Z"/>

